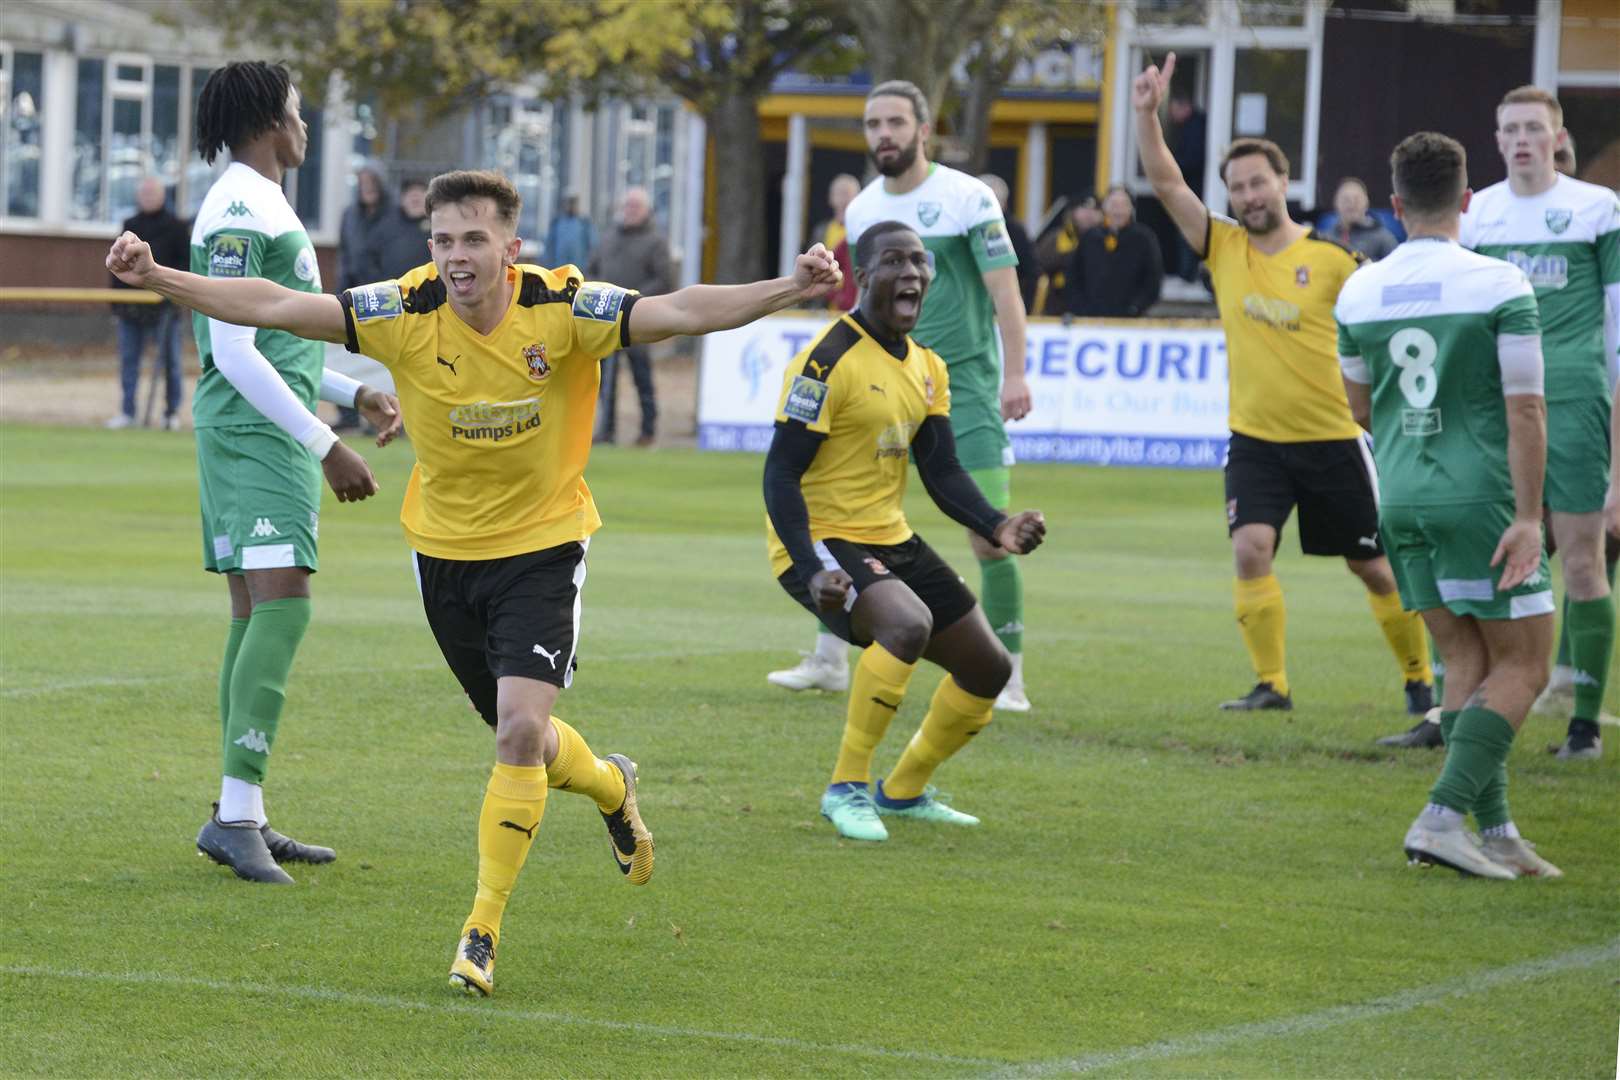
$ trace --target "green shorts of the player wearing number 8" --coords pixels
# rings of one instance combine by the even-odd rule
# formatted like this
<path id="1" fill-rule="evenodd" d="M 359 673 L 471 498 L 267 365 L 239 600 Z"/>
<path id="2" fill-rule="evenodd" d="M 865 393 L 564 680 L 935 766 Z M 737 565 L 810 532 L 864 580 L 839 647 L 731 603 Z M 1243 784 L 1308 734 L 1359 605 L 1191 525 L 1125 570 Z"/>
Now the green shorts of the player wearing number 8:
<path id="1" fill-rule="evenodd" d="M 1511 502 L 1468 502 L 1443 507 L 1382 507 L 1379 526 L 1406 610 L 1443 607 L 1474 619 L 1550 615 L 1552 578 L 1547 552 L 1528 581 L 1497 591 L 1502 568 L 1490 565 L 1503 529 L 1513 523 Z"/>

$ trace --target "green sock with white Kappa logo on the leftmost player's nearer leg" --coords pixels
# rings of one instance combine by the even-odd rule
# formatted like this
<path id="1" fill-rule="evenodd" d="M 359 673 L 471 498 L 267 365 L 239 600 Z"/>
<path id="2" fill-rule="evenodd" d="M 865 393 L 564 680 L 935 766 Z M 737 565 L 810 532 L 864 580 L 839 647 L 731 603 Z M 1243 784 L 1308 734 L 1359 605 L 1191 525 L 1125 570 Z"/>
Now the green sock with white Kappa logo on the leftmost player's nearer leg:
<path id="1" fill-rule="evenodd" d="M 287 674 L 309 628 L 309 597 L 266 601 L 253 609 L 230 672 L 225 776 L 264 784 L 266 759 L 287 701 Z"/>

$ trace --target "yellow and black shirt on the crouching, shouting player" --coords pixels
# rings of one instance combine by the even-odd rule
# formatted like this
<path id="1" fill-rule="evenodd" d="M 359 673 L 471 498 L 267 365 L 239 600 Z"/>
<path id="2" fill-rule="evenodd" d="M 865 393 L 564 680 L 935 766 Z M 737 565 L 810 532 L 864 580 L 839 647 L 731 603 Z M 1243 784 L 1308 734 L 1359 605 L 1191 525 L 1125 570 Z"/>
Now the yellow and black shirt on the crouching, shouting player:
<path id="1" fill-rule="evenodd" d="M 810 539 L 899 544 L 910 538 L 901 510 L 912 436 L 927 416 L 951 415 L 944 361 L 906 338 L 891 355 L 849 316 L 821 330 L 787 364 L 776 419 L 804 421 L 826 436 L 800 479 Z M 771 572 L 792 559 L 765 518 Z"/>

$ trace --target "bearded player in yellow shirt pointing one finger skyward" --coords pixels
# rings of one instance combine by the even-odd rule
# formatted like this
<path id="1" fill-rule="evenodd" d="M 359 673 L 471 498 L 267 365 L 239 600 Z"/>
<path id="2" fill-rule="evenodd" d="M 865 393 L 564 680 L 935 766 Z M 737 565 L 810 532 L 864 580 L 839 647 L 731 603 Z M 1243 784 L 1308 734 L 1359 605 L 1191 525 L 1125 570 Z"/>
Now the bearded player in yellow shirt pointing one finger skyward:
<path id="1" fill-rule="evenodd" d="M 1231 403 L 1226 529 L 1238 580 L 1238 630 L 1257 677 L 1223 709 L 1291 709 L 1283 664 L 1283 589 L 1272 573 L 1283 523 L 1299 507 L 1307 555 L 1340 555 L 1367 586 L 1406 690 L 1406 711 L 1434 706 L 1429 641 L 1401 610 L 1379 536 L 1372 452 L 1338 374 L 1333 303 L 1359 256 L 1288 217 L 1288 159 L 1275 142 L 1238 139 L 1221 159 L 1236 219 L 1212 214 L 1170 155 L 1158 105 L 1176 53 L 1131 86 L 1142 170 L 1181 235 L 1210 267 L 1226 332 Z"/>

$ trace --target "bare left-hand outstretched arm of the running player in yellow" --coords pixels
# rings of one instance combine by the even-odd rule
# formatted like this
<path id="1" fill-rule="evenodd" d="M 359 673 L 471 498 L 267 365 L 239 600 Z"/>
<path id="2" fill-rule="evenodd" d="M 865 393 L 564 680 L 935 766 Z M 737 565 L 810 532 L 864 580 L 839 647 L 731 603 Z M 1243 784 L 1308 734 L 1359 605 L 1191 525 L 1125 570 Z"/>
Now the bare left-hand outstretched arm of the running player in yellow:
<path id="1" fill-rule="evenodd" d="M 211 319 L 264 330 L 287 330 L 313 342 L 345 342 L 343 306 L 327 293 L 300 293 L 262 277 L 215 279 L 157 266 L 152 248 L 123 233 L 107 253 L 107 269 L 125 285 L 149 288 Z"/>

